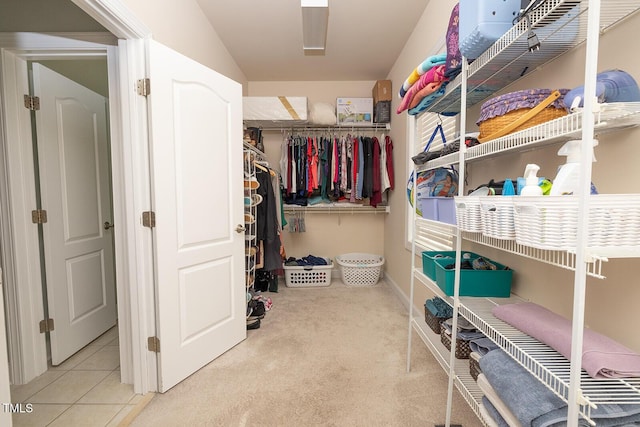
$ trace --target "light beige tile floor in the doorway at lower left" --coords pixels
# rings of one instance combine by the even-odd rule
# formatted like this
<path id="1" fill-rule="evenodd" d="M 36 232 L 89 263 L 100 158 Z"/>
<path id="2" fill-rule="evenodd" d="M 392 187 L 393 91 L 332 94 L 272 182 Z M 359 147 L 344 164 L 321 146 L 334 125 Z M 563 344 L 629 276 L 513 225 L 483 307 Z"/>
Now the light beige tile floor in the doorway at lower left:
<path id="1" fill-rule="evenodd" d="M 13 414 L 15 427 L 118 426 L 142 399 L 120 383 L 117 327 L 29 384 L 11 386 L 12 403 L 25 404 Z"/>

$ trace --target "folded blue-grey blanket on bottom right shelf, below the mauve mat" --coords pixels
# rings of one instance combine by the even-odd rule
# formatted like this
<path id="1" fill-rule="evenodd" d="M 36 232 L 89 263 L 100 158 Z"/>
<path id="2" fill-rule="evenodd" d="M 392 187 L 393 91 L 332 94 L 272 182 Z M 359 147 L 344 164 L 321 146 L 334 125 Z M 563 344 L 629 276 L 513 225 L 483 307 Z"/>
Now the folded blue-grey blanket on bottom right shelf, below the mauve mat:
<path id="1" fill-rule="evenodd" d="M 502 350 L 480 358 L 480 369 L 500 400 L 524 426 L 567 424 L 567 404 Z M 640 405 L 598 404 L 591 410 L 598 427 L 640 423 Z M 589 425 L 581 419 L 579 425 Z"/>

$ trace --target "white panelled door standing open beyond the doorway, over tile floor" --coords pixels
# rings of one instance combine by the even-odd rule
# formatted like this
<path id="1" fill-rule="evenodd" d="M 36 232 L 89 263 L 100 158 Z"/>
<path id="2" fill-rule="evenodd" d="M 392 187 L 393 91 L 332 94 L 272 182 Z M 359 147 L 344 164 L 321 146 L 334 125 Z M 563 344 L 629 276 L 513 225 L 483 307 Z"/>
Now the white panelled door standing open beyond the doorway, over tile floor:
<path id="1" fill-rule="evenodd" d="M 106 99 L 33 64 L 44 256 L 57 365 L 116 323 Z"/>

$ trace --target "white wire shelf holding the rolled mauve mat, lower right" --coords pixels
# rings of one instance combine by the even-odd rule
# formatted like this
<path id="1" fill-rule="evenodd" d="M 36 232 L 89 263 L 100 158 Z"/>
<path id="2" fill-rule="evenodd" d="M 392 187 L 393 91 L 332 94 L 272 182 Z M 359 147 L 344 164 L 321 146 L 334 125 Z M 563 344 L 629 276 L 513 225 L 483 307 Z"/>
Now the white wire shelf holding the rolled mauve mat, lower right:
<path id="1" fill-rule="evenodd" d="M 461 297 L 460 314 L 566 402 L 569 396 L 570 361 L 549 346 L 493 316 L 493 308 L 503 303 L 497 299 Z M 640 378 L 592 378 L 583 370 L 580 383 L 582 402 L 578 405 L 579 412 L 590 422 L 591 409 L 597 405 L 640 404 Z"/>

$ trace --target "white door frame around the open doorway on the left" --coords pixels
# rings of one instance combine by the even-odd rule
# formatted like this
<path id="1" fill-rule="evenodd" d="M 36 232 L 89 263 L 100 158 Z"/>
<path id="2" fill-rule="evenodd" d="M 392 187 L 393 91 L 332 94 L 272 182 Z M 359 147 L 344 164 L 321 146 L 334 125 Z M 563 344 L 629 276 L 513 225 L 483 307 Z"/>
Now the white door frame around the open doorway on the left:
<path id="1" fill-rule="evenodd" d="M 121 379 L 122 382 L 133 384 L 136 393 L 156 391 L 156 357 L 154 353 L 147 350 L 147 337 L 155 334 L 152 241 L 150 230 L 143 228 L 140 220 L 141 213 L 149 210 L 150 206 L 147 115 L 146 101 L 135 91 L 137 80 L 145 76 L 144 39 L 150 36 L 150 32 L 118 0 L 72 1 L 119 39 L 117 48 L 105 47 L 101 41 L 95 44 L 78 41 L 78 39 L 91 40 L 90 35 L 38 35 L 34 37 L 33 35 L 17 34 L 12 35 L 15 37 L 13 40 L 3 40 L 3 46 L 12 46 L 12 49 L 3 49 L 3 53 L 11 50 L 16 55 L 33 54 L 49 58 L 54 55 L 58 58 L 77 58 L 102 50 L 103 54 L 107 55 L 114 223 L 118 224 L 118 232 L 115 233 L 115 250 Z M 5 56 L 9 57 L 10 55 L 3 54 L 3 63 Z M 10 67 L 3 64 L 3 80 L 6 80 L 8 74 L 12 73 L 15 74 L 15 69 L 11 70 Z M 5 81 L 3 89 L 6 91 L 8 87 L 10 86 Z M 15 96 L 14 101 L 16 100 Z M 6 105 L 4 107 L 7 108 Z M 9 110 L 11 108 L 7 108 L 6 115 L 11 114 Z M 7 123 L 4 123 L 3 127 L 8 129 Z M 25 129 L 18 127 L 17 130 L 20 132 Z M 7 160 L 6 144 L 11 136 L 8 133 L 4 132 L 0 135 L 5 161 Z M 6 173 L 7 163 L 1 166 L 4 169 L 3 172 Z M 0 202 L 3 206 L 9 202 L 7 184 L 6 175 L 0 177 L 0 197 L 2 197 Z M 12 205 L 12 208 L 19 208 L 23 211 L 32 209 L 28 205 L 28 203 L 18 207 Z M 9 293 L 9 289 L 14 291 L 18 289 L 16 283 L 18 280 L 22 280 L 22 275 L 25 273 L 24 266 L 17 263 L 18 259 L 23 261 L 20 258 L 21 254 L 16 253 L 16 246 L 20 242 L 15 241 L 15 234 L 11 231 L 12 221 L 9 219 L 3 210 L 3 217 L 0 218 L 2 222 L 0 230 L 2 231 L 1 242 L 4 248 L 3 263 L 6 263 L 9 269 L 9 271 L 5 271 L 5 290 L 7 293 Z M 11 219 L 13 220 L 13 218 Z M 25 262 L 39 263 L 39 257 Z M 32 268 L 32 266 L 27 266 L 27 268 Z M 37 269 L 39 270 L 39 267 Z M 13 292 L 8 298 L 9 313 L 7 318 L 15 321 L 8 326 L 8 340 L 12 349 L 15 348 L 19 351 L 18 355 L 11 352 L 10 357 L 13 361 L 16 360 L 16 356 L 25 355 L 25 352 L 31 351 L 37 354 L 42 352 L 42 348 L 44 348 L 40 344 L 41 341 L 44 341 L 42 336 L 39 336 L 39 331 L 38 333 L 34 331 L 34 325 L 37 323 L 26 323 L 27 321 L 37 322 L 40 320 L 38 319 L 39 313 L 34 310 L 34 307 L 42 307 L 42 299 L 38 298 L 38 293 L 41 293 L 40 278 L 38 276 L 35 279 L 38 282 L 37 286 L 33 283 L 25 285 L 20 281 L 20 293 Z M 15 315 L 15 311 L 22 309 L 23 306 L 28 307 L 27 314 L 24 315 L 27 319 L 13 317 L 12 314 Z M 14 310 L 14 313 L 11 313 L 11 310 Z M 20 329 L 23 332 L 29 330 L 30 339 L 21 340 L 20 334 L 17 333 Z M 20 382 L 28 374 L 29 372 L 25 372 L 24 367 L 19 363 L 12 364 L 14 382 Z"/>

